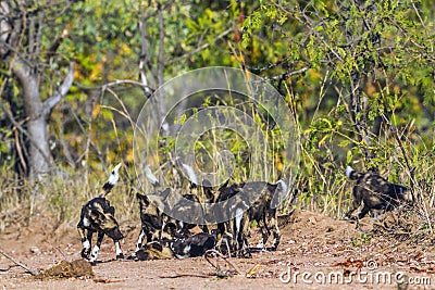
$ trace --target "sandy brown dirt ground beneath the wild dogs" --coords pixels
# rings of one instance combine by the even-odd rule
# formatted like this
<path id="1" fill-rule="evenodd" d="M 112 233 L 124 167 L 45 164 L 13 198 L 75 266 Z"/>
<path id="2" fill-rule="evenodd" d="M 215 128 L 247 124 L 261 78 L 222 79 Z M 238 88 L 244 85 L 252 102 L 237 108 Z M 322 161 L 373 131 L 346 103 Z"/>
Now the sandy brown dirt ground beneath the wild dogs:
<path id="1" fill-rule="evenodd" d="M 371 219 L 366 224 L 374 223 Z M 123 225 L 126 255 L 135 247 L 138 225 Z M 252 232 L 252 244 L 260 236 Z M 204 257 L 163 261 L 114 261 L 114 245 L 104 239 L 94 277 L 35 279 L 28 270 L 0 255 L 2 289 L 432 289 L 435 288 L 433 242 L 399 241 L 363 234 L 349 220 L 295 211 L 282 227 L 276 252 L 252 259 Z M 32 269 L 79 260 L 75 224 L 55 225 L 50 216 L 8 227 L 0 249 Z M 236 275 L 234 267 L 240 274 Z M 220 277 L 216 274 L 222 274 Z M 227 277 L 225 274 L 229 274 Z M 408 283 L 402 283 L 408 281 Z"/>

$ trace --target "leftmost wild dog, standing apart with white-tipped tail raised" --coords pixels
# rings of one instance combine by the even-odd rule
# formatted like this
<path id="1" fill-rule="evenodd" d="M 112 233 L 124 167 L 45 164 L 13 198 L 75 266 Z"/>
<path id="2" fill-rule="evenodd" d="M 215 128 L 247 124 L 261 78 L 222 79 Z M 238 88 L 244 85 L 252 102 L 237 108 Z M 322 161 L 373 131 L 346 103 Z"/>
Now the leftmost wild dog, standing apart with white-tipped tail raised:
<path id="1" fill-rule="evenodd" d="M 100 250 L 104 235 L 113 239 L 116 248 L 116 259 L 124 259 L 121 250 L 120 240 L 124 238 L 120 230 L 114 215 L 115 209 L 110 205 L 110 202 L 104 198 L 112 188 L 116 185 L 119 179 L 119 169 L 121 164 L 117 164 L 109 176 L 108 181 L 103 185 L 104 194 L 88 201 L 83 207 L 80 213 L 80 220 L 77 224 L 78 234 L 80 235 L 83 249 L 80 252 L 82 257 L 95 263 L 97 260 L 98 251 Z M 92 235 L 97 232 L 97 243 L 90 252 Z M 90 257 L 89 257 L 90 254 Z"/>

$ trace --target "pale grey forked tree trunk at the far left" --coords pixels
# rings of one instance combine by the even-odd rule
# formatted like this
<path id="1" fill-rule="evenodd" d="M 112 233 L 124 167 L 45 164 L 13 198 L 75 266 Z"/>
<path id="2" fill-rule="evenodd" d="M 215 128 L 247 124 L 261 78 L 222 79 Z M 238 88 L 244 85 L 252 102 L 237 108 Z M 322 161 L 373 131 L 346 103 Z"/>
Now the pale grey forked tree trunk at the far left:
<path id="1" fill-rule="evenodd" d="M 36 2 L 35 2 L 36 3 Z M 41 180 L 53 166 L 53 157 L 48 143 L 47 122 L 51 111 L 70 90 L 74 79 L 74 63 L 70 63 L 70 70 L 63 83 L 49 98 L 41 100 L 39 86 L 42 79 L 38 70 L 41 59 L 42 27 L 45 9 L 37 13 L 27 13 L 26 1 L 0 0 L 0 59 L 10 61 L 13 77 L 22 87 L 24 110 L 26 113 L 26 128 L 20 127 L 28 138 L 28 176 L 30 180 Z M 23 35 L 28 34 L 27 38 Z M 67 30 L 52 43 L 47 55 L 55 53 L 62 40 L 67 37 Z M 23 40 L 26 39 L 26 40 Z M 25 41 L 25 42 L 22 42 Z M 27 51 L 18 51 L 15 48 L 27 48 Z M 51 54 L 50 54 L 51 53 Z M 10 119 L 16 123 L 13 114 Z"/>

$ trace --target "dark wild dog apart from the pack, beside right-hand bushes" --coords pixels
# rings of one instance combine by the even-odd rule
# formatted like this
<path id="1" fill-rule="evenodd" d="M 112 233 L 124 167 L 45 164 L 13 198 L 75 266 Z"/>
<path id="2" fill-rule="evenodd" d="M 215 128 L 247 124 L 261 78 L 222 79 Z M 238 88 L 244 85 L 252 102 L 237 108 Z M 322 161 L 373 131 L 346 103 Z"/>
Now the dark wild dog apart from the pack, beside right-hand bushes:
<path id="1" fill-rule="evenodd" d="M 352 167 L 346 167 L 346 177 L 357 180 L 353 186 L 353 201 L 346 217 L 350 218 L 361 202 L 363 209 L 358 214 L 358 219 L 363 218 L 372 210 L 391 211 L 402 202 L 410 202 L 409 189 L 401 185 L 395 185 L 378 175 L 376 168 L 371 168 L 366 173 L 356 172 Z"/>

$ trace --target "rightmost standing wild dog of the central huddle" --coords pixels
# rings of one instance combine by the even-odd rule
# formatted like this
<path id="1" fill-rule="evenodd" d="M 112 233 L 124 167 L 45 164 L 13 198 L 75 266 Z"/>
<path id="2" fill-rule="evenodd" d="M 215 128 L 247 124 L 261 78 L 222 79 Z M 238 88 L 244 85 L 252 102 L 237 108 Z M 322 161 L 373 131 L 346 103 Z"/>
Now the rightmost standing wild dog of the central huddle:
<path id="1" fill-rule="evenodd" d="M 261 190 L 261 192 L 259 192 Z M 250 181 L 246 184 L 234 184 L 229 187 L 220 189 L 219 202 L 228 202 L 231 198 L 235 198 L 234 204 L 229 206 L 229 211 L 235 213 L 235 217 L 228 222 L 217 225 L 217 239 L 221 243 L 222 237 L 226 234 L 231 237 L 231 251 L 236 251 L 239 256 L 250 256 L 247 235 L 250 223 L 256 220 L 261 230 L 262 239 L 257 248 L 264 250 L 265 243 L 273 234 L 272 245 L 266 250 L 275 251 L 279 244 L 281 234 L 277 224 L 277 211 L 272 209 L 272 199 L 275 192 L 286 192 L 287 186 L 283 180 L 276 184 L 265 181 Z M 258 197 L 253 203 L 244 201 L 237 194 L 244 193 L 248 197 Z M 220 249 L 223 249 L 220 245 Z"/>

